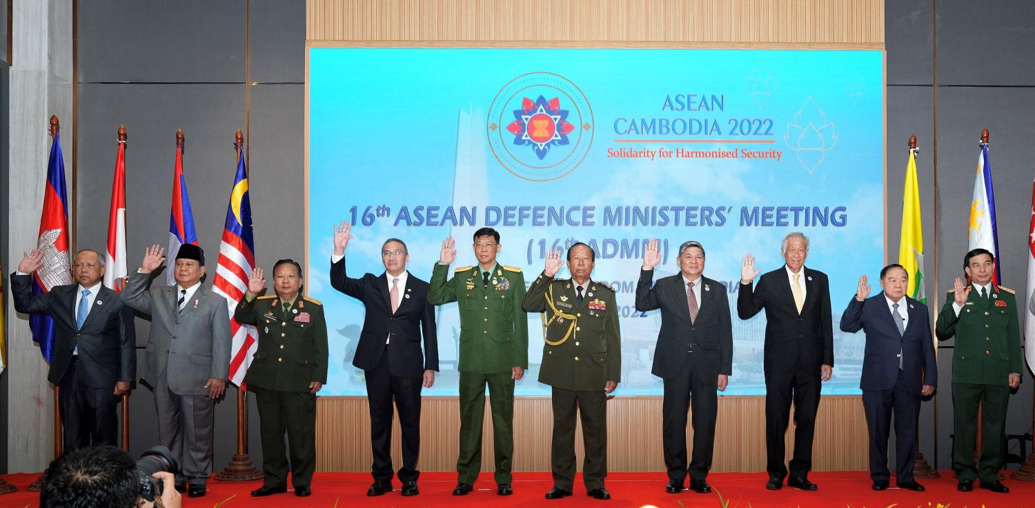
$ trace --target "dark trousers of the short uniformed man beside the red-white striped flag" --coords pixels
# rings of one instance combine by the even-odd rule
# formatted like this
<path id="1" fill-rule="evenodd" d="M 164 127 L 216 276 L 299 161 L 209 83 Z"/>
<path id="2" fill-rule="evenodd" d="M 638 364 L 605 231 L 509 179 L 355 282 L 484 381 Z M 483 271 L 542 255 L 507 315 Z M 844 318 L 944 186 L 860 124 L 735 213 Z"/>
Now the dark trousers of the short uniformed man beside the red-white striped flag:
<path id="1" fill-rule="evenodd" d="M 263 484 L 286 487 L 290 467 L 292 485 L 309 486 L 317 469 L 317 396 L 309 392 L 248 388 L 255 392 L 259 409 Z"/>

